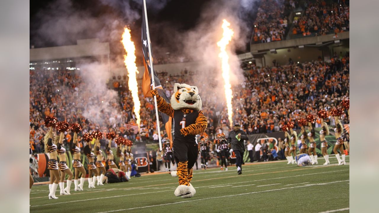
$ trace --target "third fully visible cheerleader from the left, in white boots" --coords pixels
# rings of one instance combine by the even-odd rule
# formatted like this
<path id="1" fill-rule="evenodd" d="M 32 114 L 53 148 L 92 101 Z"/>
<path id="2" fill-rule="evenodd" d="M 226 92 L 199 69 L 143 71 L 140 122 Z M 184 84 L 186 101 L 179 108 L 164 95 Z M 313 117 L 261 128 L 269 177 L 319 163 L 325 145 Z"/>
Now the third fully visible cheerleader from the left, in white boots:
<path id="1" fill-rule="evenodd" d="M 80 161 L 80 148 L 77 141 L 77 133 L 74 132 L 74 138 L 72 140 L 72 143 L 70 144 L 71 153 L 74 158 L 74 185 L 75 185 L 75 191 L 83 191 L 83 185 L 86 177 L 86 170 L 84 169 L 83 164 Z M 80 176 L 80 184 L 78 183 L 79 178 L 79 172 L 81 172 Z"/>

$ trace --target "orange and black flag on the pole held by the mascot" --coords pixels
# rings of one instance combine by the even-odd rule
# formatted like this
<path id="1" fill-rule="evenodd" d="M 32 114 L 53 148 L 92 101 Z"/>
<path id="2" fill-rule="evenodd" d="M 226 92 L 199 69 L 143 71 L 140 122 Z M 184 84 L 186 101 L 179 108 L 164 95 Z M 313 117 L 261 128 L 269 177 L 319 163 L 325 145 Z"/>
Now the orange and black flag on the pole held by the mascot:
<path id="1" fill-rule="evenodd" d="M 166 96 L 166 93 L 163 91 L 161 81 L 159 80 L 157 73 L 153 69 L 153 56 L 149 55 L 149 50 L 150 50 L 150 53 L 152 54 L 152 49 L 151 49 L 151 43 L 149 40 L 150 36 L 147 36 L 147 34 L 149 33 L 149 28 L 148 28 L 148 23 L 147 23 L 147 16 L 145 14 L 146 11 L 144 9 L 146 8 L 145 1 L 143 1 L 143 4 L 144 5 L 142 9 L 142 51 L 143 51 L 143 62 L 145 66 L 145 72 L 144 72 L 143 80 L 142 80 L 142 92 L 143 92 L 144 97 L 152 97 L 152 95 L 150 94 L 150 90 L 153 87 L 152 76 L 151 76 L 151 70 L 153 70 L 155 89 L 158 90 L 158 94 L 161 97 L 163 97 L 167 103 L 170 103 L 170 100 Z M 160 115 L 161 115 L 164 127 L 166 129 L 167 136 L 170 139 L 170 144 L 172 144 L 172 135 L 171 135 L 172 118 L 164 113 L 160 113 Z"/>

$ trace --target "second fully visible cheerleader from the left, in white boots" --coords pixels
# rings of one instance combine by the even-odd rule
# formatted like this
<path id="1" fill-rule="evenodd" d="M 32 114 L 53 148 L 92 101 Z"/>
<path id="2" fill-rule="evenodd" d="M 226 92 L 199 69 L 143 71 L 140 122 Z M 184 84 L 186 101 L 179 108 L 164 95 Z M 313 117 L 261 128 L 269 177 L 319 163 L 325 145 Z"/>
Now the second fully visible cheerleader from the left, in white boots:
<path id="1" fill-rule="evenodd" d="M 57 140 L 55 140 L 56 144 L 57 144 L 57 148 L 58 148 L 56 150 L 56 152 L 58 153 L 58 157 L 59 157 L 58 168 L 59 168 L 59 171 L 61 173 L 61 180 L 59 182 L 59 187 L 61 189 L 61 192 L 60 192 L 61 195 L 70 194 L 72 176 L 74 176 L 72 174 L 72 171 L 67 167 L 66 149 L 62 146 L 63 137 L 64 137 L 64 133 L 61 132 L 59 138 L 56 137 Z M 64 178 L 66 177 L 66 174 L 69 175 L 69 177 L 67 178 L 67 186 L 66 186 L 66 188 L 64 188 Z"/>

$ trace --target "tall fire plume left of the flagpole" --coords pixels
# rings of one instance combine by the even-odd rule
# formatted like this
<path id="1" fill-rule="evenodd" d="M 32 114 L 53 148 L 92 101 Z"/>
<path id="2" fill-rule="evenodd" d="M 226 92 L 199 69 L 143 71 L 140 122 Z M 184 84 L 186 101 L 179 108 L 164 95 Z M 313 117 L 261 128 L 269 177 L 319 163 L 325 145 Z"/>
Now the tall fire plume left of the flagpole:
<path id="1" fill-rule="evenodd" d="M 132 41 L 130 29 L 127 27 L 124 28 L 124 33 L 122 33 L 121 43 L 122 45 L 124 45 L 124 49 L 126 52 L 126 54 L 124 55 L 124 64 L 126 69 L 128 70 L 128 86 L 130 92 L 132 93 L 132 98 L 134 102 L 134 114 L 136 115 L 137 124 L 139 128 L 139 124 L 141 123 L 141 117 L 139 115 L 141 102 L 139 102 L 138 84 L 136 77 L 136 74 L 138 74 L 135 56 L 136 47 L 134 46 L 134 42 Z"/>

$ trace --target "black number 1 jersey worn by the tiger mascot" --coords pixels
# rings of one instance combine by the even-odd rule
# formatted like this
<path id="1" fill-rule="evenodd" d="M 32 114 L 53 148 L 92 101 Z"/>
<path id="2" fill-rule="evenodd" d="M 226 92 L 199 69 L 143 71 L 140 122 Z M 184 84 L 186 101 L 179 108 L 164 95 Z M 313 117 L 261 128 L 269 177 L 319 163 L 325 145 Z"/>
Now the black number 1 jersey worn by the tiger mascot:
<path id="1" fill-rule="evenodd" d="M 196 118 L 199 111 L 193 110 L 188 114 L 184 114 L 181 110 L 174 110 L 174 141 L 197 143 L 196 135 L 184 136 L 180 133 L 180 129 L 196 124 Z"/>

